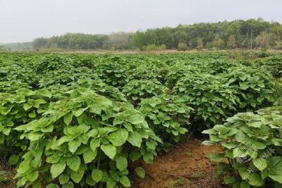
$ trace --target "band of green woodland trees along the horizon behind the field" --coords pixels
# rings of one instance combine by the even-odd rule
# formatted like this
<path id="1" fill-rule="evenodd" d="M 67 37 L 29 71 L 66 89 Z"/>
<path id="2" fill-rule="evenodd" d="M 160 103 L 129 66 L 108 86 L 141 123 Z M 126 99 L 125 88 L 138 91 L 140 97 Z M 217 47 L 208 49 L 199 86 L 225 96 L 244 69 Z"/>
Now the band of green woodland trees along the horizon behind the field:
<path id="1" fill-rule="evenodd" d="M 282 25 L 262 18 L 197 23 L 111 35 L 68 33 L 32 42 L 35 49 L 282 49 Z"/>

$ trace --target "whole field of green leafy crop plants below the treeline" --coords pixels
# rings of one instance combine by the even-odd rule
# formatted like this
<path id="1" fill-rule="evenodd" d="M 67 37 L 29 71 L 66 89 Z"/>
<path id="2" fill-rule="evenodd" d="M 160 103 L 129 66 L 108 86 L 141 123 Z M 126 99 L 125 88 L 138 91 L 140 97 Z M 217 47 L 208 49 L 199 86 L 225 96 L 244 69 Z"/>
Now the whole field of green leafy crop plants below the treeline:
<path id="1" fill-rule="evenodd" d="M 281 98 L 267 51 L 0 53 L 0 187 L 282 187 Z"/>

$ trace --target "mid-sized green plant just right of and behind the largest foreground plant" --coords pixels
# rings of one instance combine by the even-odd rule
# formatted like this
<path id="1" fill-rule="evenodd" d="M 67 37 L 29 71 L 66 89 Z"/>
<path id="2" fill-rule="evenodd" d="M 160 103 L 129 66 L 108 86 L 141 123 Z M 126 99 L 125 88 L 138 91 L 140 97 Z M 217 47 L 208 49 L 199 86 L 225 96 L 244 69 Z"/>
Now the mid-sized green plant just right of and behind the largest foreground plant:
<path id="1" fill-rule="evenodd" d="M 143 99 L 140 104 L 140 111 L 145 114 L 149 127 L 164 141 L 160 149 L 165 151 L 188 132 L 192 110 L 185 105 L 185 98 L 169 94 Z"/>

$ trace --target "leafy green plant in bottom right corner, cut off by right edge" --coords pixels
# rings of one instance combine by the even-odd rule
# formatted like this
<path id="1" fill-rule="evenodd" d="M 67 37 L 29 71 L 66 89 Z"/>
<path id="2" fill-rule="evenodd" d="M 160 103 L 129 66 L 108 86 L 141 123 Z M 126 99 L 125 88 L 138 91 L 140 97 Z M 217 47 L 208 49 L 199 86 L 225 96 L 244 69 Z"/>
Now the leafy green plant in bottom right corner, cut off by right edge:
<path id="1" fill-rule="evenodd" d="M 219 143 L 223 148 L 222 153 L 210 153 L 208 157 L 220 162 L 216 175 L 225 175 L 226 184 L 281 187 L 281 112 L 281 107 L 271 107 L 257 113 L 238 113 L 223 125 L 204 130 L 210 138 L 204 144 Z"/>

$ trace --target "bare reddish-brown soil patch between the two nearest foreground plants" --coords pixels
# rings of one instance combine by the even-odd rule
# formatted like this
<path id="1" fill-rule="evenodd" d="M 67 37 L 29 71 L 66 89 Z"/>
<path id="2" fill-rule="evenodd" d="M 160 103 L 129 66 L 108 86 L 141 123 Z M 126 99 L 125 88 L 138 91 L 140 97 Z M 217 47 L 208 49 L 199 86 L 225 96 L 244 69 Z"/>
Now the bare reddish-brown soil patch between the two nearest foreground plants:
<path id="1" fill-rule="evenodd" d="M 173 146 L 164 156 L 157 157 L 153 165 L 142 165 L 146 170 L 146 177 L 133 177 L 133 187 L 172 188 L 172 181 L 179 178 L 183 178 L 183 184 L 174 187 L 224 187 L 222 180 L 214 177 L 216 163 L 206 157 L 208 153 L 218 151 L 219 146 L 203 146 L 195 139 Z M 201 173 L 201 176 L 193 178 L 192 173 Z"/>

